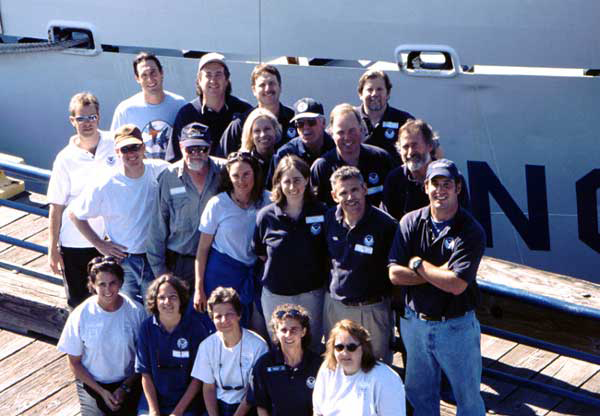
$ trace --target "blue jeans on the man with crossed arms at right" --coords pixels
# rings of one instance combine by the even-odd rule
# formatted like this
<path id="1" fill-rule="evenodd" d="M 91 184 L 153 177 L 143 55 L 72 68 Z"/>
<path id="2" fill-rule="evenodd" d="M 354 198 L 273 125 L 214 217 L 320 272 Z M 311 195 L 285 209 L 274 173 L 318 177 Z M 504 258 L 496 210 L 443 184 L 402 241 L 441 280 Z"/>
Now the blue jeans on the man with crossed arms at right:
<path id="1" fill-rule="evenodd" d="M 474 311 L 445 322 L 423 321 L 406 308 L 400 330 L 406 346 L 405 388 L 414 416 L 440 414 L 443 370 L 458 416 L 485 415 L 481 398 L 481 329 Z"/>

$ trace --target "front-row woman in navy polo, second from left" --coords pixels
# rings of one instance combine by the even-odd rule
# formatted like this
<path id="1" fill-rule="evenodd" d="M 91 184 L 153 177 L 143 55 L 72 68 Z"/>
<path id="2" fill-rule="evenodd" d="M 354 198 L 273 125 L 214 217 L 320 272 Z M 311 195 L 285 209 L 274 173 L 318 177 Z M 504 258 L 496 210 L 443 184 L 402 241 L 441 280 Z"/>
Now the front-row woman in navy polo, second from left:
<path id="1" fill-rule="evenodd" d="M 191 416 L 204 409 L 197 394 L 201 384 L 191 371 L 198 345 L 210 331 L 204 314 L 188 301 L 187 283 L 171 274 L 158 277 L 148 288 L 146 308 L 152 316 L 140 329 L 135 363 L 144 390 L 138 415 Z"/>

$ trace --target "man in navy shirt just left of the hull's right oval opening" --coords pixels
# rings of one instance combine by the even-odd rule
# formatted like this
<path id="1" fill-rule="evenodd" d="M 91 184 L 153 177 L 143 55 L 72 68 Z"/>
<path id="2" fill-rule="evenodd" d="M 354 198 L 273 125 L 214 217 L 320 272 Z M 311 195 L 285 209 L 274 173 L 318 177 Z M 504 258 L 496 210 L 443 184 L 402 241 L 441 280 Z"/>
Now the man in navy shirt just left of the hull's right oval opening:
<path id="1" fill-rule="evenodd" d="M 395 143 L 398 129 L 407 120 L 414 117 L 406 111 L 398 110 L 388 104 L 392 83 L 388 75 L 380 70 L 369 69 L 358 80 L 358 96 L 361 105 L 357 107 L 367 125 L 366 143 L 387 151 L 394 164 L 401 160 L 396 152 Z"/>

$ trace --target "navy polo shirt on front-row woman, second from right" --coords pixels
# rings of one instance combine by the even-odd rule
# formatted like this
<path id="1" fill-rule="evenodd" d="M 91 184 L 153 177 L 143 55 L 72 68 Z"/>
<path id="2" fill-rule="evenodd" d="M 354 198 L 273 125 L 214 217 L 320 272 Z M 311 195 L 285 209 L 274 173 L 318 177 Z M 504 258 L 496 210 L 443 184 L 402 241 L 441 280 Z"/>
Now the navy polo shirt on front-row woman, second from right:
<path id="1" fill-rule="evenodd" d="M 300 365 L 284 363 L 279 348 L 258 359 L 252 372 L 248 401 L 263 407 L 271 416 L 312 415 L 312 393 L 322 359 L 305 350 Z"/>

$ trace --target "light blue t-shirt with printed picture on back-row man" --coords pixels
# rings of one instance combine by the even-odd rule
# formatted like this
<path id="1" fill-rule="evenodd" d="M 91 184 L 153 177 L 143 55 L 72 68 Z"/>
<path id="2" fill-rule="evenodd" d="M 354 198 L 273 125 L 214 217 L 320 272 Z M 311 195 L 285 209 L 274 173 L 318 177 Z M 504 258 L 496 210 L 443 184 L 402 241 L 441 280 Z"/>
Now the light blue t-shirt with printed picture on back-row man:
<path id="1" fill-rule="evenodd" d="M 148 104 L 144 100 L 144 93 L 140 91 L 119 103 L 110 129 L 115 131 L 124 124 L 135 124 L 142 131 L 146 157 L 164 159 L 175 117 L 186 103 L 180 95 L 165 91 L 162 103 Z"/>

